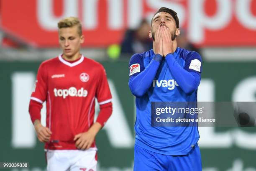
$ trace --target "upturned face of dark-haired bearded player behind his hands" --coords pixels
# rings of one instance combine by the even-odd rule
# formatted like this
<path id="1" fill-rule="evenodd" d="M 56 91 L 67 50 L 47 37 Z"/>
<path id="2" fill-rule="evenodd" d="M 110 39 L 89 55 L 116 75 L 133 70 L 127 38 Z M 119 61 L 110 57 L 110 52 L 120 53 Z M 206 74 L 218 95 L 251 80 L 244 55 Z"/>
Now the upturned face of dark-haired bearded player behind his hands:
<path id="1" fill-rule="evenodd" d="M 169 28 L 169 32 L 172 35 L 172 41 L 179 35 L 179 29 L 176 27 L 176 23 L 172 15 L 166 12 L 160 12 L 157 13 L 152 20 L 151 33 L 154 41 L 156 29 L 159 25 L 161 27 L 166 26 Z"/>

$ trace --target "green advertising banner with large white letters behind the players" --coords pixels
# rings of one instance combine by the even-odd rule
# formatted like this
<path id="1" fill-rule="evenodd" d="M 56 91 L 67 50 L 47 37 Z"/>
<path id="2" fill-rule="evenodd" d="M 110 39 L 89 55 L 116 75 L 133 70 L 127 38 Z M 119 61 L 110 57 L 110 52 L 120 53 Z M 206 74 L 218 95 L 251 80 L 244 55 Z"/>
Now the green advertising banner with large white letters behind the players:
<path id="1" fill-rule="evenodd" d="M 133 126 L 136 115 L 135 98 L 128 87 L 128 61 L 101 63 L 106 69 L 113 97 L 113 114 L 96 137 L 98 170 L 132 171 L 135 137 Z M 25 61 L 0 62 L 0 162 L 28 163 L 27 168 L 4 169 L 6 171 L 46 170 L 44 145 L 36 138 L 28 113 L 30 95 L 39 64 L 40 62 Z M 217 106 L 220 115 L 215 116 L 211 113 L 212 115 L 207 118 L 215 118 L 216 122 L 224 121 L 219 126 L 209 124 L 199 127 L 203 171 L 256 171 L 255 127 L 239 127 L 236 122 L 237 118 L 244 118 L 242 116 L 244 114 L 240 113 L 246 112 L 250 115 L 255 112 L 253 110 L 255 108 L 253 104 L 256 102 L 255 65 L 255 62 L 203 64 L 204 70 L 198 88 L 198 101 L 203 103 L 197 106 L 198 112 L 204 107 L 202 111 L 210 114 L 213 111 L 211 107 Z M 241 101 L 242 103 L 239 103 Z M 236 102 L 232 104 L 235 104 L 238 113 L 234 113 L 233 107 L 227 108 L 231 103 L 226 102 Z M 156 108 L 159 117 L 166 112 L 165 106 L 164 110 Z M 98 108 L 96 106 L 96 113 L 99 111 Z M 176 106 L 174 108 L 178 109 Z M 224 109 L 228 111 L 232 109 L 232 112 L 225 116 Z M 194 111 L 190 110 L 189 113 Z M 41 111 L 43 124 L 45 124 L 45 113 L 43 107 Z M 202 114 L 202 117 L 205 117 L 204 113 Z M 228 123 L 231 119 L 235 121 L 234 125 Z M 239 123 L 242 125 L 241 121 Z"/>

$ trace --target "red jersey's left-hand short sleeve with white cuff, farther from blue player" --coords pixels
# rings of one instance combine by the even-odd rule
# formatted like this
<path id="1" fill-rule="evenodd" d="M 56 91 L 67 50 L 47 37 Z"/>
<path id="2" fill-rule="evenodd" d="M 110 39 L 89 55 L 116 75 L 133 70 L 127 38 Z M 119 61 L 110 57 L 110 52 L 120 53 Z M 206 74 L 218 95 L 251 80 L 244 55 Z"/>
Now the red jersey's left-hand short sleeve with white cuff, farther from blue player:
<path id="1" fill-rule="evenodd" d="M 47 73 L 44 64 L 39 66 L 31 100 L 43 103 L 47 97 Z"/>

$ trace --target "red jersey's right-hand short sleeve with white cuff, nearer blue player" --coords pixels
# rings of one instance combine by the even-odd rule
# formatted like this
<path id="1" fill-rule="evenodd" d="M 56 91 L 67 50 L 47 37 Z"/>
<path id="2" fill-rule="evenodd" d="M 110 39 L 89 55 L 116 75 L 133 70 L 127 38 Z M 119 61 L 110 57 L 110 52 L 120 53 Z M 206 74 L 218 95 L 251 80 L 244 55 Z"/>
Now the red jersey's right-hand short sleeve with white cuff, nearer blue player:
<path id="1" fill-rule="evenodd" d="M 110 88 L 108 85 L 107 74 L 103 66 L 100 67 L 99 80 L 96 89 L 96 98 L 100 105 L 109 103 L 112 101 Z"/>

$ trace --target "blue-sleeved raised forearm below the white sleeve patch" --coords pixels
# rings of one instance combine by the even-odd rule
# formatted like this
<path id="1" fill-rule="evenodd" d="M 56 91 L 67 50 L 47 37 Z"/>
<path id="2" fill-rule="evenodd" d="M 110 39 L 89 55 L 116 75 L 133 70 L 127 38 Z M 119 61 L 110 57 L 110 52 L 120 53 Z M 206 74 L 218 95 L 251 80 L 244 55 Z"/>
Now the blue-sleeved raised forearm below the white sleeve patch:
<path id="1" fill-rule="evenodd" d="M 179 84 L 179 87 L 186 93 L 190 94 L 194 92 L 200 84 L 200 76 L 196 73 L 189 72 L 182 68 L 174 58 L 173 54 L 168 54 L 166 56 L 166 62 L 169 69 L 175 79 Z"/>

